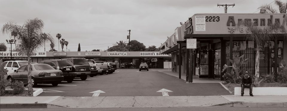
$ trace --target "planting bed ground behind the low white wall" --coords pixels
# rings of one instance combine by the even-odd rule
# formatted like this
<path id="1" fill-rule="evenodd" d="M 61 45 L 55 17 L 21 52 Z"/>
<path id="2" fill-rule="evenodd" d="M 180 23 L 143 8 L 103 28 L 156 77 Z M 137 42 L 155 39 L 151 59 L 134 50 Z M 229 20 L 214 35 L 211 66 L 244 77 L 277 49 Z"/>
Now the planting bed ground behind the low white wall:
<path id="1" fill-rule="evenodd" d="M 231 92 L 234 94 L 234 87 L 240 87 L 241 83 L 234 84 L 234 83 L 228 83 L 224 84 Z M 255 87 L 253 85 L 253 87 Z M 287 87 L 286 83 L 260 83 L 259 87 Z"/>

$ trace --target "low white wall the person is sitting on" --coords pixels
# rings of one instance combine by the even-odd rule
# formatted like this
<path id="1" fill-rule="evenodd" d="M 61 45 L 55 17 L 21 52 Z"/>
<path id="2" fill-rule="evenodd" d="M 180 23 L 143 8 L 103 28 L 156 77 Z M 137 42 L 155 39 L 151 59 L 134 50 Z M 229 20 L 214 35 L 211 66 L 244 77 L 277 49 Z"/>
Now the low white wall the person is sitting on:
<path id="1" fill-rule="evenodd" d="M 287 95 L 287 87 L 253 87 L 253 95 Z M 241 95 L 241 87 L 234 87 L 234 95 Z M 244 95 L 249 95 L 249 88 L 244 89 Z"/>

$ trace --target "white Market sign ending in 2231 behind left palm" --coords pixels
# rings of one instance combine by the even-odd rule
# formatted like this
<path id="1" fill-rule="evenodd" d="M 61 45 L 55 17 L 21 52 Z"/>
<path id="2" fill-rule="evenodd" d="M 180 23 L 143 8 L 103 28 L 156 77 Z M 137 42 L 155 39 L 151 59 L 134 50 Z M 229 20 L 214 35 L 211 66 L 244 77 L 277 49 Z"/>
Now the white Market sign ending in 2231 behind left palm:
<path id="1" fill-rule="evenodd" d="M 12 55 L 12 57 L 27 57 L 27 55 L 25 53 L 20 53 L 17 51 L 0 51 L 0 57 L 10 57 Z M 30 53 L 31 57 L 47 57 L 46 52 L 44 51 L 39 51 L 36 53 Z"/>

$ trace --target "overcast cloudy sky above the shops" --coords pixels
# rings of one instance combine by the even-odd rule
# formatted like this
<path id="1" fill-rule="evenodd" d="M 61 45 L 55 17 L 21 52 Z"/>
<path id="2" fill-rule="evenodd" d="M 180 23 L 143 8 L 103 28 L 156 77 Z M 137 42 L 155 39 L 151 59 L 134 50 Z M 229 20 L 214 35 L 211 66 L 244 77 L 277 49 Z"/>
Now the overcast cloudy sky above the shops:
<path id="1" fill-rule="evenodd" d="M 257 8 L 273 0 L 0 0 L 0 27 L 9 22 L 23 25 L 27 19 L 38 17 L 45 23 L 43 32 L 56 34 L 69 42 L 68 49 L 81 51 L 105 50 L 113 43 L 126 39 L 146 47 L 160 46 L 174 33 L 180 22 L 195 13 L 224 13 L 217 4 L 233 4 L 227 13 L 258 13 Z M 272 3 L 273 4 L 273 3 Z M 257 12 L 256 12 L 257 11 Z M 10 39 L 0 34 L 0 43 Z M 46 51 L 50 49 L 46 43 Z M 99 45 L 100 44 L 100 45 Z M 7 44 L 9 51 L 10 44 Z M 12 48 L 15 48 L 15 45 Z M 61 46 L 60 46 L 61 48 Z M 66 47 L 64 48 L 66 49 Z M 60 49 L 61 50 L 61 49 Z M 44 47 L 40 49 L 44 51 Z"/>

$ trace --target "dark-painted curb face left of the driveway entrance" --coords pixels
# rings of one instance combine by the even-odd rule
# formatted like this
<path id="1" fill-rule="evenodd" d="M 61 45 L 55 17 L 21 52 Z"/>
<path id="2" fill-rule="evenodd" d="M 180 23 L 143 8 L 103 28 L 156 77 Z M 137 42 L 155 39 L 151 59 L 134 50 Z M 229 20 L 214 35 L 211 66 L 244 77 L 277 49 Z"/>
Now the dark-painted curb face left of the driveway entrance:
<path id="1" fill-rule="evenodd" d="M 0 104 L 1 109 L 3 108 L 47 108 L 47 104 L 39 103 L 39 104 Z"/>

